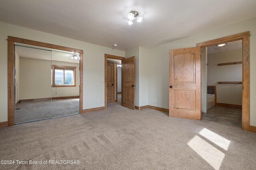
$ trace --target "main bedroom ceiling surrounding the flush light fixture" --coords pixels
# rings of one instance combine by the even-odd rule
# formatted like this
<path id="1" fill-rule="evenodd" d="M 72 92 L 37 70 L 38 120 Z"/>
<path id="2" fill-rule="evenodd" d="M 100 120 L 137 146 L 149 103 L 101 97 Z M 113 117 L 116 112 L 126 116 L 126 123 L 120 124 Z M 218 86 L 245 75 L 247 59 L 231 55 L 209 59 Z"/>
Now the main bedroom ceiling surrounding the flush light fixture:
<path id="1" fill-rule="evenodd" d="M 255 9 L 256 0 L 0 0 L 0 21 L 126 50 L 253 18 Z M 132 10 L 141 23 L 128 25 Z"/>

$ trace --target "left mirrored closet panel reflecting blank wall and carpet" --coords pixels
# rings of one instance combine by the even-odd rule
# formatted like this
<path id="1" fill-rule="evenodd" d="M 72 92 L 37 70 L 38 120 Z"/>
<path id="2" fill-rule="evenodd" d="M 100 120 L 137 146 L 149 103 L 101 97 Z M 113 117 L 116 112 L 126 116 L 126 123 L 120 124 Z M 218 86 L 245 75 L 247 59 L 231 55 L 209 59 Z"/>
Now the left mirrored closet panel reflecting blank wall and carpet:
<path id="1" fill-rule="evenodd" d="M 51 117 L 51 51 L 15 45 L 14 123 Z"/>

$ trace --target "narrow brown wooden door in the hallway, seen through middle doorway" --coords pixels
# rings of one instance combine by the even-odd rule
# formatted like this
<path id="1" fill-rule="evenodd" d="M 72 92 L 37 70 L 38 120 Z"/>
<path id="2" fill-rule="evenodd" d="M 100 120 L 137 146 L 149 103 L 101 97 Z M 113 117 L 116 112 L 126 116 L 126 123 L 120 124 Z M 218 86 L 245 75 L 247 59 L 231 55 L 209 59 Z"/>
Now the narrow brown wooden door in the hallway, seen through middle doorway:
<path id="1" fill-rule="evenodd" d="M 114 102 L 114 63 L 107 63 L 107 103 Z"/>

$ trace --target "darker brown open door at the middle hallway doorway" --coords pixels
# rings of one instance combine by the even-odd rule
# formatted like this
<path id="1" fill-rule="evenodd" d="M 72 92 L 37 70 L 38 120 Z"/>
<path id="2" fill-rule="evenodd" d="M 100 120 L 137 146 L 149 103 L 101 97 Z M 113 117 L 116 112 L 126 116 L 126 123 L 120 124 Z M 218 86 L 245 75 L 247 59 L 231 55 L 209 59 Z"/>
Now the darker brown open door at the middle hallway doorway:
<path id="1" fill-rule="evenodd" d="M 122 106 L 134 110 L 135 57 L 122 60 Z"/>

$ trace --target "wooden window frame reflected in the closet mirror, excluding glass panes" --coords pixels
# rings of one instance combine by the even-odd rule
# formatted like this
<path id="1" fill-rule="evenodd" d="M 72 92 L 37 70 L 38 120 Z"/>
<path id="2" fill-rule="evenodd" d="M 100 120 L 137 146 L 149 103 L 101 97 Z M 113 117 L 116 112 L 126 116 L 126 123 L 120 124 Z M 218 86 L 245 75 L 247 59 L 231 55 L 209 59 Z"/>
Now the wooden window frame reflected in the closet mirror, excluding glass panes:
<path id="1" fill-rule="evenodd" d="M 64 69 L 64 84 L 55 84 L 55 69 L 61 68 Z M 73 69 L 73 85 L 65 84 L 65 69 Z M 59 66 L 52 65 L 52 87 L 76 87 L 76 67 L 74 66 Z"/>

